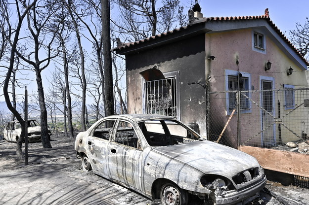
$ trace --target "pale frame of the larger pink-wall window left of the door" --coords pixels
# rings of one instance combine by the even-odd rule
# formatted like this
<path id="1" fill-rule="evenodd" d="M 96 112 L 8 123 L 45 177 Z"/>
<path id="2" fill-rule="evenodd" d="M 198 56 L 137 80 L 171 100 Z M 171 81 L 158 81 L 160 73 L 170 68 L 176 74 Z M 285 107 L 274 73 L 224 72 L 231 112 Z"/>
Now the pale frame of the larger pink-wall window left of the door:
<path id="1" fill-rule="evenodd" d="M 242 74 L 243 77 L 248 78 L 248 88 L 249 90 L 251 90 L 251 74 L 248 72 L 240 72 Z M 225 90 L 228 91 L 228 76 L 233 75 L 233 76 L 237 76 L 238 75 L 238 71 L 237 70 L 228 70 L 225 69 Z M 228 93 L 225 94 L 225 104 L 226 104 L 226 115 L 231 115 L 232 111 L 229 110 L 229 97 L 228 97 Z M 251 92 L 249 92 L 249 98 L 251 98 Z M 249 109 L 243 109 L 240 110 L 240 113 L 251 113 L 252 112 L 252 105 L 251 105 L 251 101 L 249 101 Z"/>

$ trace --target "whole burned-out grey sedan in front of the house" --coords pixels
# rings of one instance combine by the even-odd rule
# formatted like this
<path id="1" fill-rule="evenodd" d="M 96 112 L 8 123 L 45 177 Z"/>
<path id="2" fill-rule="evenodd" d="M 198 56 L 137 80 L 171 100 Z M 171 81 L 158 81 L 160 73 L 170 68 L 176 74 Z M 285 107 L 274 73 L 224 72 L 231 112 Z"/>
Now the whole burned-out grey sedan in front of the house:
<path id="1" fill-rule="evenodd" d="M 163 115 L 102 118 L 78 134 L 75 150 L 84 170 L 163 205 L 187 205 L 190 195 L 205 204 L 246 204 L 266 182 L 254 157 Z"/>

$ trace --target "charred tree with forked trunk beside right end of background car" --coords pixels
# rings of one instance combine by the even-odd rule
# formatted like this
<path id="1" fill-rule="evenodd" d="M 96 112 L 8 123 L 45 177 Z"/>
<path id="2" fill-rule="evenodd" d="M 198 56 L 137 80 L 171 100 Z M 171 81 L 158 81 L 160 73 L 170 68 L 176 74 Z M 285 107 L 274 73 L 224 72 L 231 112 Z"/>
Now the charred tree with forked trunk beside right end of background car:
<path id="1" fill-rule="evenodd" d="M 25 5 L 25 1 L 22 1 Z M 34 3 L 32 8 L 27 12 L 27 27 L 29 35 L 27 36 L 28 52 L 23 55 L 19 51 L 15 51 L 17 55 L 26 63 L 31 65 L 36 73 L 36 81 L 38 86 L 38 97 L 41 110 L 41 137 L 44 148 L 50 148 L 51 144 L 48 137 L 47 111 L 44 97 L 44 87 L 42 81 L 42 71 L 48 67 L 51 59 L 58 55 L 59 45 L 54 45 L 54 39 L 59 32 L 61 22 L 64 16 L 61 14 L 61 4 L 58 1 L 39 1 Z M 34 48 L 30 51 L 30 48 Z M 42 51 L 46 51 L 45 57 L 42 58 Z M 53 53 L 53 51 L 56 51 Z"/>

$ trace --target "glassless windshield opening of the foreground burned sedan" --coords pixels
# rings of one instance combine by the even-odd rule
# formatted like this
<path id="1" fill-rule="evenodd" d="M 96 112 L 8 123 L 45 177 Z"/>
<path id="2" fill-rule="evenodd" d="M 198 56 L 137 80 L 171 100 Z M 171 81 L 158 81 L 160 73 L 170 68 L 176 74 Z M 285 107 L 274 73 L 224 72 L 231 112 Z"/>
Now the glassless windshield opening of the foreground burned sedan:
<path id="1" fill-rule="evenodd" d="M 176 120 L 147 120 L 138 125 L 150 146 L 185 144 L 200 139 Z"/>

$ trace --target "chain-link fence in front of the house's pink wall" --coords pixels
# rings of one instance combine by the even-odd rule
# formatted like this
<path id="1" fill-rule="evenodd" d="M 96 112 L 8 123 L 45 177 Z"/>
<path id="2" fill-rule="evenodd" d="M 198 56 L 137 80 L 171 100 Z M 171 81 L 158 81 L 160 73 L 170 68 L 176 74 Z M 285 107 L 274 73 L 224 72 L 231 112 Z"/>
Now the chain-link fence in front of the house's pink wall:
<path id="1" fill-rule="evenodd" d="M 210 140 L 309 153 L 308 88 L 210 92 L 208 99 Z"/>

